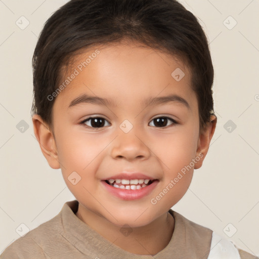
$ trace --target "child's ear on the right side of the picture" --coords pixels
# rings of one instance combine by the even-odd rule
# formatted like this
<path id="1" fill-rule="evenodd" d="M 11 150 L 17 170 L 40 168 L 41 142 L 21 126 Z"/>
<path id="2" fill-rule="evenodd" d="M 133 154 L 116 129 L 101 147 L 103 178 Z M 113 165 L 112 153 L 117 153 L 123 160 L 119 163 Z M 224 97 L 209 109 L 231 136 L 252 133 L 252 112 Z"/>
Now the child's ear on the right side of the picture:
<path id="1" fill-rule="evenodd" d="M 210 121 L 207 123 L 203 131 L 201 131 L 199 136 L 196 157 L 199 157 L 200 160 L 195 163 L 194 169 L 200 168 L 203 163 L 203 160 L 208 152 L 210 141 L 215 132 L 216 124 L 217 117 L 215 115 L 210 115 Z"/>

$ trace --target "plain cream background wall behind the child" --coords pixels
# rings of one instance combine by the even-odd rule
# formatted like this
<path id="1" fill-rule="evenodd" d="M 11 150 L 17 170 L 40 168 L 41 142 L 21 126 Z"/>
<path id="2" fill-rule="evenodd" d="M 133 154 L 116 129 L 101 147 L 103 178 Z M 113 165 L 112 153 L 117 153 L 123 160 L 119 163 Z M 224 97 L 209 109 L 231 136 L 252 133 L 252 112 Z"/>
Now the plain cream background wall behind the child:
<path id="1" fill-rule="evenodd" d="M 20 237 L 19 229 L 36 228 L 74 199 L 61 170 L 42 155 L 30 116 L 37 37 L 66 2 L 0 1 L 0 253 Z M 259 1 L 181 3 L 199 18 L 210 42 L 218 126 L 202 168 L 173 209 L 259 255 Z"/>

